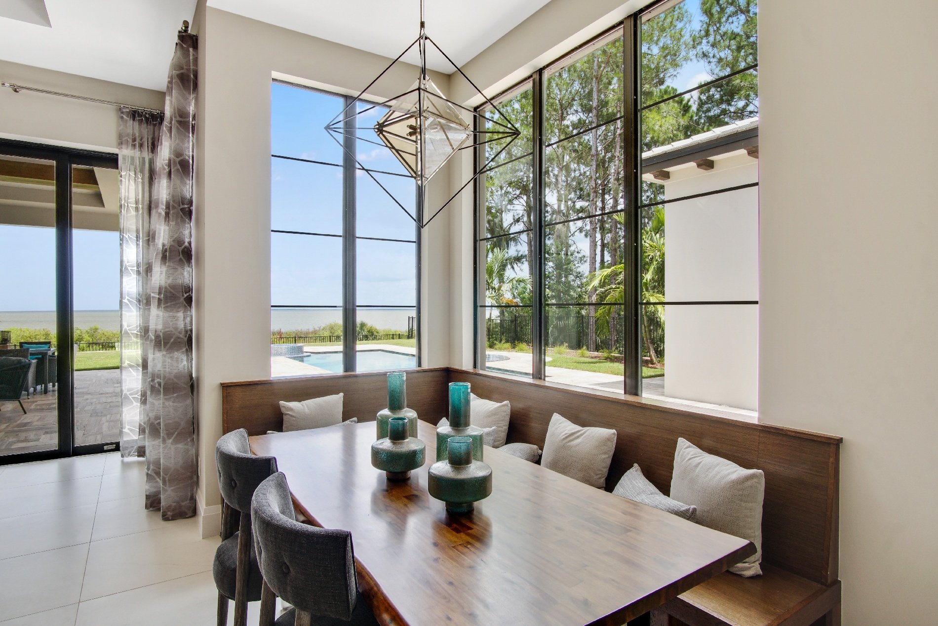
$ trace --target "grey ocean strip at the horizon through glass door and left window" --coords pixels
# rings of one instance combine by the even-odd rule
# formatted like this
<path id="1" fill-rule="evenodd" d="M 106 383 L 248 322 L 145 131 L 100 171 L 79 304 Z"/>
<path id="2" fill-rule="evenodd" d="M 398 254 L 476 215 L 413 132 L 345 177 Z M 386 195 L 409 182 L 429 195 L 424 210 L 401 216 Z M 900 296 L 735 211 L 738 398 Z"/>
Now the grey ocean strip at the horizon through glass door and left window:
<path id="1" fill-rule="evenodd" d="M 371 326 L 393 330 L 407 330 L 408 316 L 415 315 L 414 309 L 359 309 L 358 321 Z M 306 330 L 319 328 L 329 322 L 341 322 L 342 313 L 337 309 L 271 309 L 271 330 Z M 120 313 L 117 311 L 76 311 L 75 328 L 97 326 L 104 330 L 120 330 Z M 55 328 L 54 311 L 0 311 L 0 329 L 3 328 Z"/>

